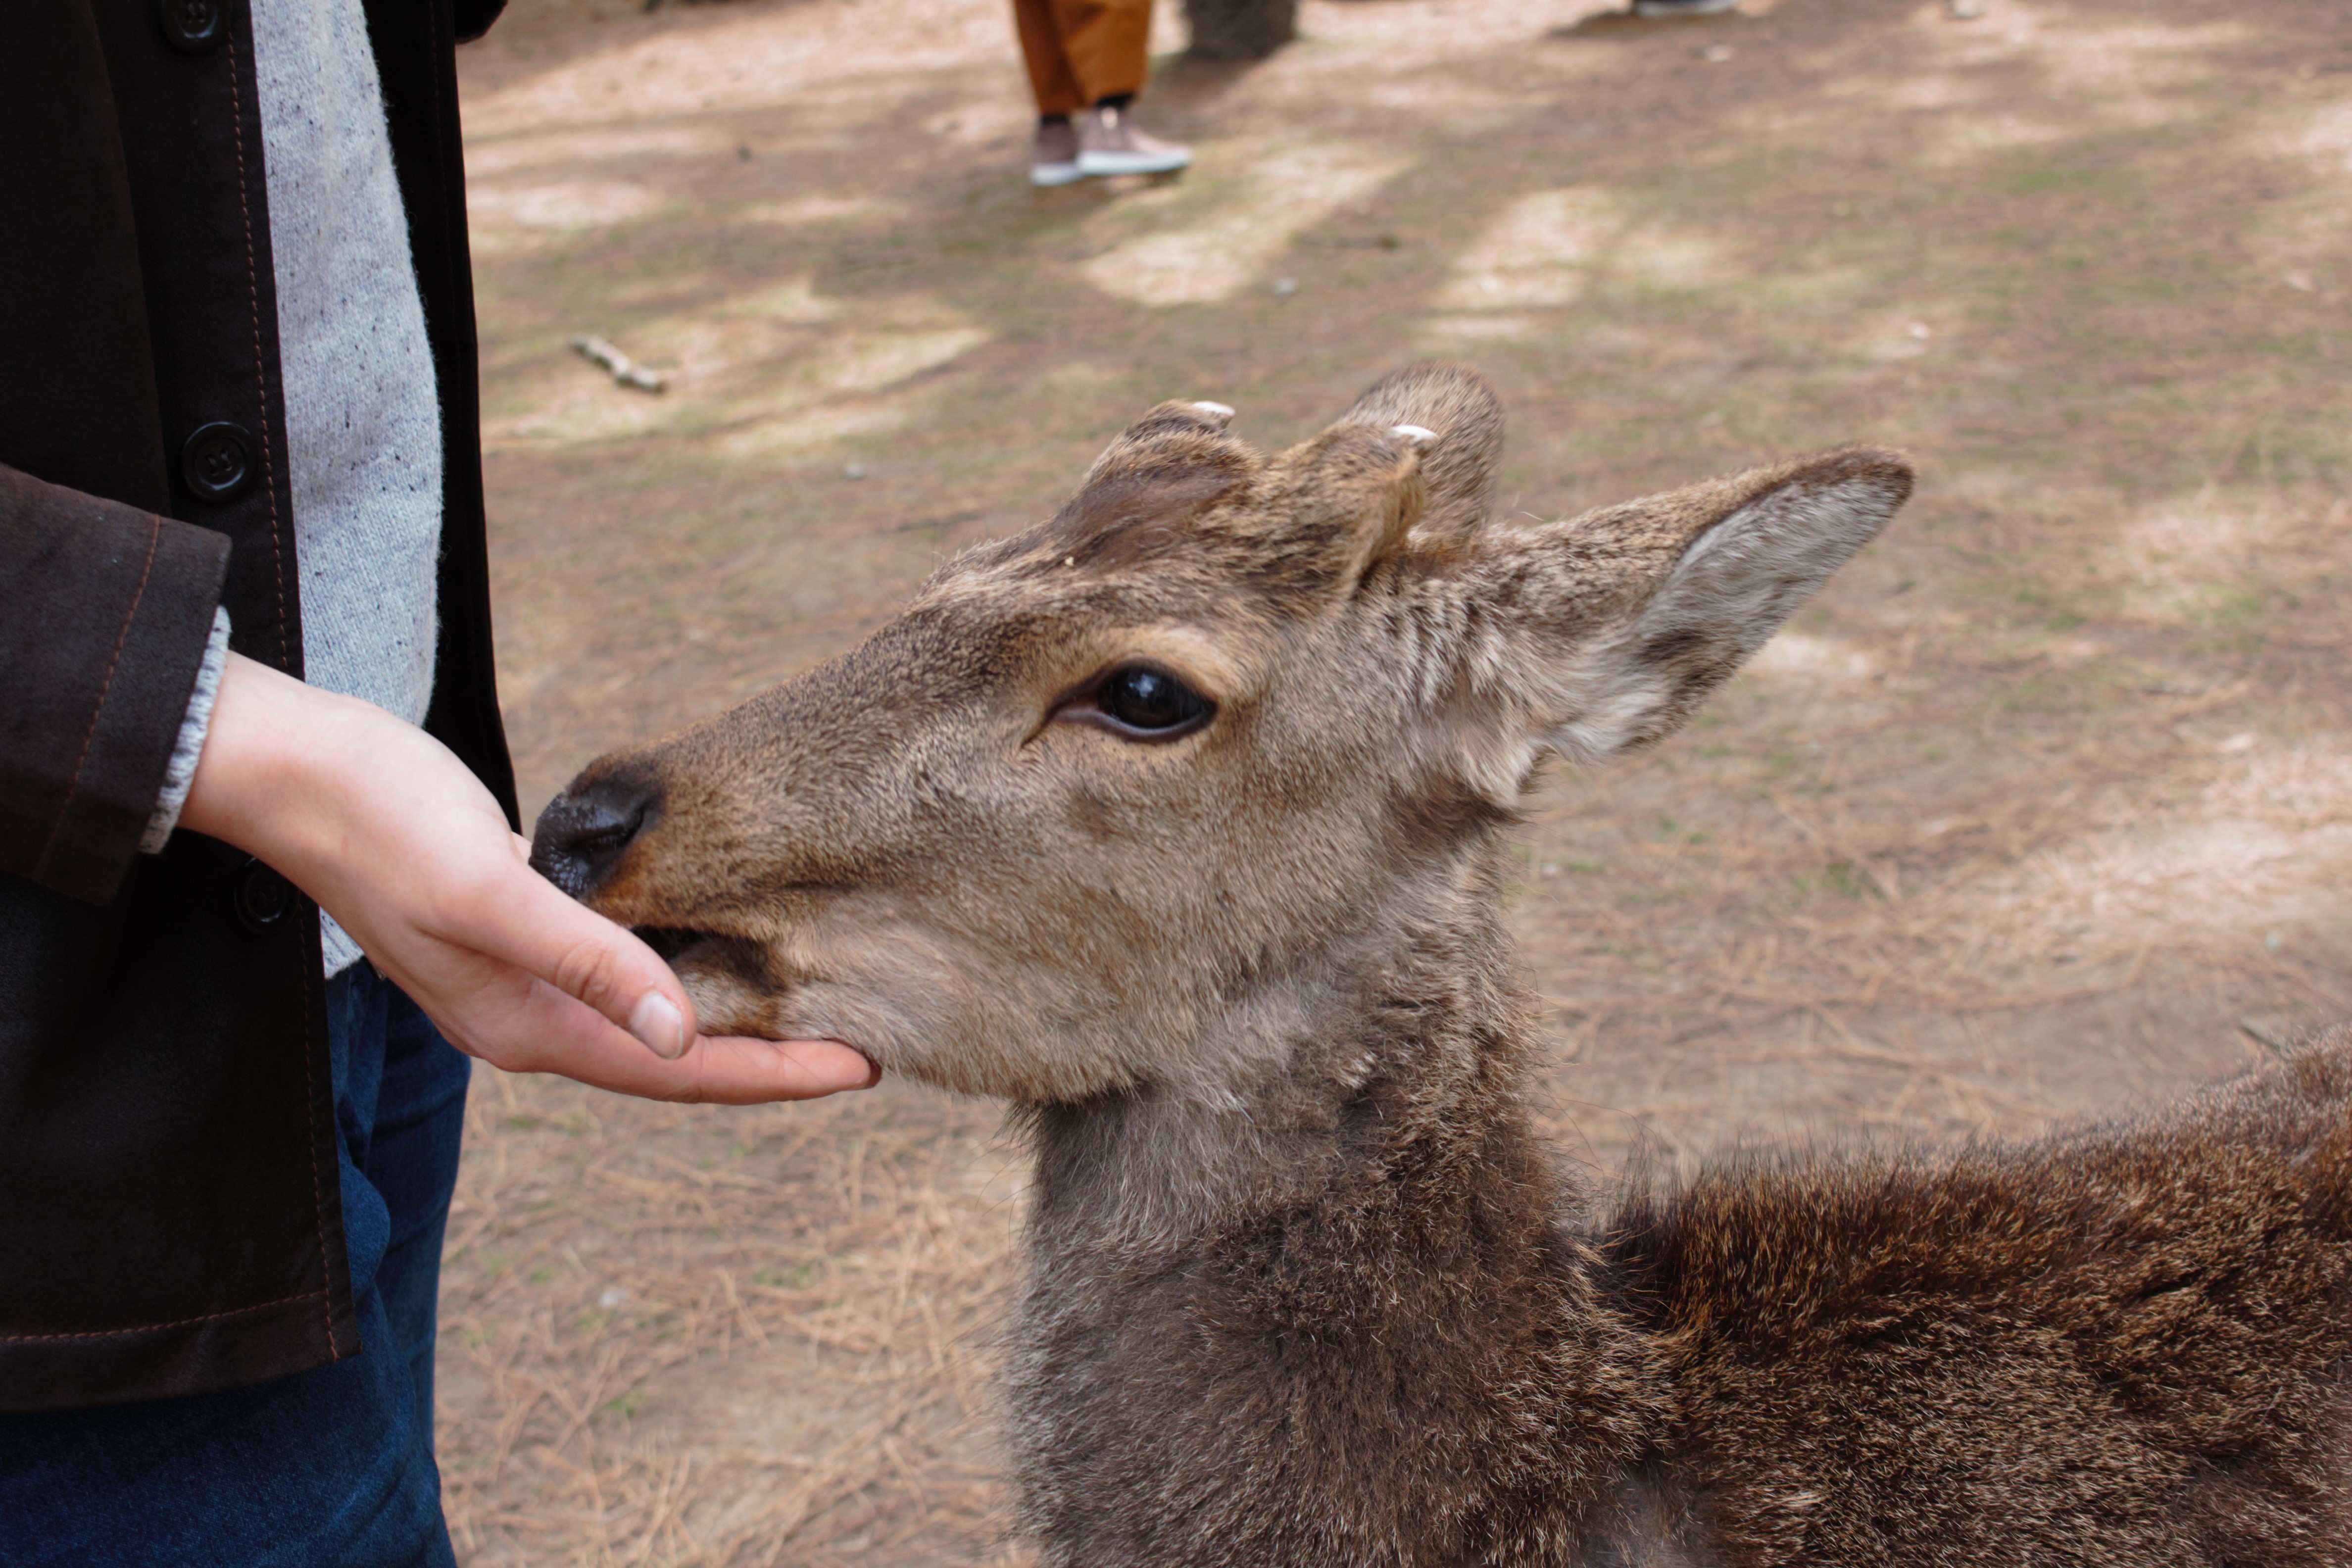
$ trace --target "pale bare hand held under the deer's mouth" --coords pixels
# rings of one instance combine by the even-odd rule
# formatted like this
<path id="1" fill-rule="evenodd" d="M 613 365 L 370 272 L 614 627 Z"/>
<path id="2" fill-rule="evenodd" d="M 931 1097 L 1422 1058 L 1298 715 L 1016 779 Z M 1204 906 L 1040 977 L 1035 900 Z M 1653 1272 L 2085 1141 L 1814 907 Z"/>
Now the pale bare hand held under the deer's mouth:
<path id="1" fill-rule="evenodd" d="M 238 654 L 181 827 L 310 893 L 449 1041 L 649 1100 L 814 1100 L 880 1074 L 830 1039 L 699 1034 L 670 966 L 527 863 L 440 741 Z"/>

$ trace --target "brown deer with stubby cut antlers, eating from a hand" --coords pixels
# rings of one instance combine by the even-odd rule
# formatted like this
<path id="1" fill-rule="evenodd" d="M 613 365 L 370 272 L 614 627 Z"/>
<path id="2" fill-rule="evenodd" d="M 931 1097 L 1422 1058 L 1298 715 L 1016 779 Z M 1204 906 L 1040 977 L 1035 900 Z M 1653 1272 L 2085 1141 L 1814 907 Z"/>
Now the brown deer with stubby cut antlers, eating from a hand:
<path id="1" fill-rule="evenodd" d="M 534 837 L 706 1030 L 1009 1103 L 1040 1561 L 2352 1563 L 2352 1032 L 2032 1140 L 1613 1194 L 1534 1131 L 1531 778 L 1677 729 L 1907 461 L 1505 527 L 1468 367 L 1270 456 L 1230 416 L 1148 411 Z"/>

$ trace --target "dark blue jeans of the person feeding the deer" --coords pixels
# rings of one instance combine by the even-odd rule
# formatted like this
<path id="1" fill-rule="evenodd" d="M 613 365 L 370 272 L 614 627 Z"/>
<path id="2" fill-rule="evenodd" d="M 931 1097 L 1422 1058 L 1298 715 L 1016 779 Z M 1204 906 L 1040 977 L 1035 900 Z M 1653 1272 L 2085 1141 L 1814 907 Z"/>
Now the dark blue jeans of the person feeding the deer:
<path id="1" fill-rule="evenodd" d="M 327 1037 L 360 1354 L 223 1394 L 0 1415 L 0 1563 L 456 1561 L 433 1316 L 470 1063 L 365 961 L 327 985 Z"/>

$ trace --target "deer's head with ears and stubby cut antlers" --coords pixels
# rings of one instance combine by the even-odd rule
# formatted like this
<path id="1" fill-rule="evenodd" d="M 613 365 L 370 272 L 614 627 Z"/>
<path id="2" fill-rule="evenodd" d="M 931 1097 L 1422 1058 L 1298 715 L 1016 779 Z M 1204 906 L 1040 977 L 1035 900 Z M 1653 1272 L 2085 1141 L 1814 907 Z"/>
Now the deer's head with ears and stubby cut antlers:
<path id="1" fill-rule="evenodd" d="M 1515 529 L 1470 369 L 1275 456 L 1228 418 L 1160 404 L 863 646 L 597 759 L 534 865 L 706 1030 L 1033 1105 L 1225 1093 L 1336 952 L 1491 907 L 1545 752 L 1672 731 L 1912 482 L 1856 447 Z"/>

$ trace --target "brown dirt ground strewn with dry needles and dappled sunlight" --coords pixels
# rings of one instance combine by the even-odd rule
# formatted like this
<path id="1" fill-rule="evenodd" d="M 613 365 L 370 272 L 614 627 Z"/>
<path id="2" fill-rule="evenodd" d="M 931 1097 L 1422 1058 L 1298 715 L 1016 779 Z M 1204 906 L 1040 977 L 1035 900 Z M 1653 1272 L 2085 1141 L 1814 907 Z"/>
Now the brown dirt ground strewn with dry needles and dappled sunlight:
<path id="1" fill-rule="evenodd" d="M 1002 0 L 513 0 L 463 52 L 536 809 L 1044 517 L 1160 397 L 1263 444 L 1425 353 L 1555 517 L 1842 440 L 1922 484 L 1686 733 L 1555 773 L 1515 919 L 1606 1180 L 2002 1135 L 2352 1013 L 2352 9 L 1305 0 L 1174 61 L 1178 181 L 1035 193 Z M 612 386 L 595 331 L 668 376 Z M 468 1563 L 1018 1563 L 1018 1150 L 475 1086 Z"/>

